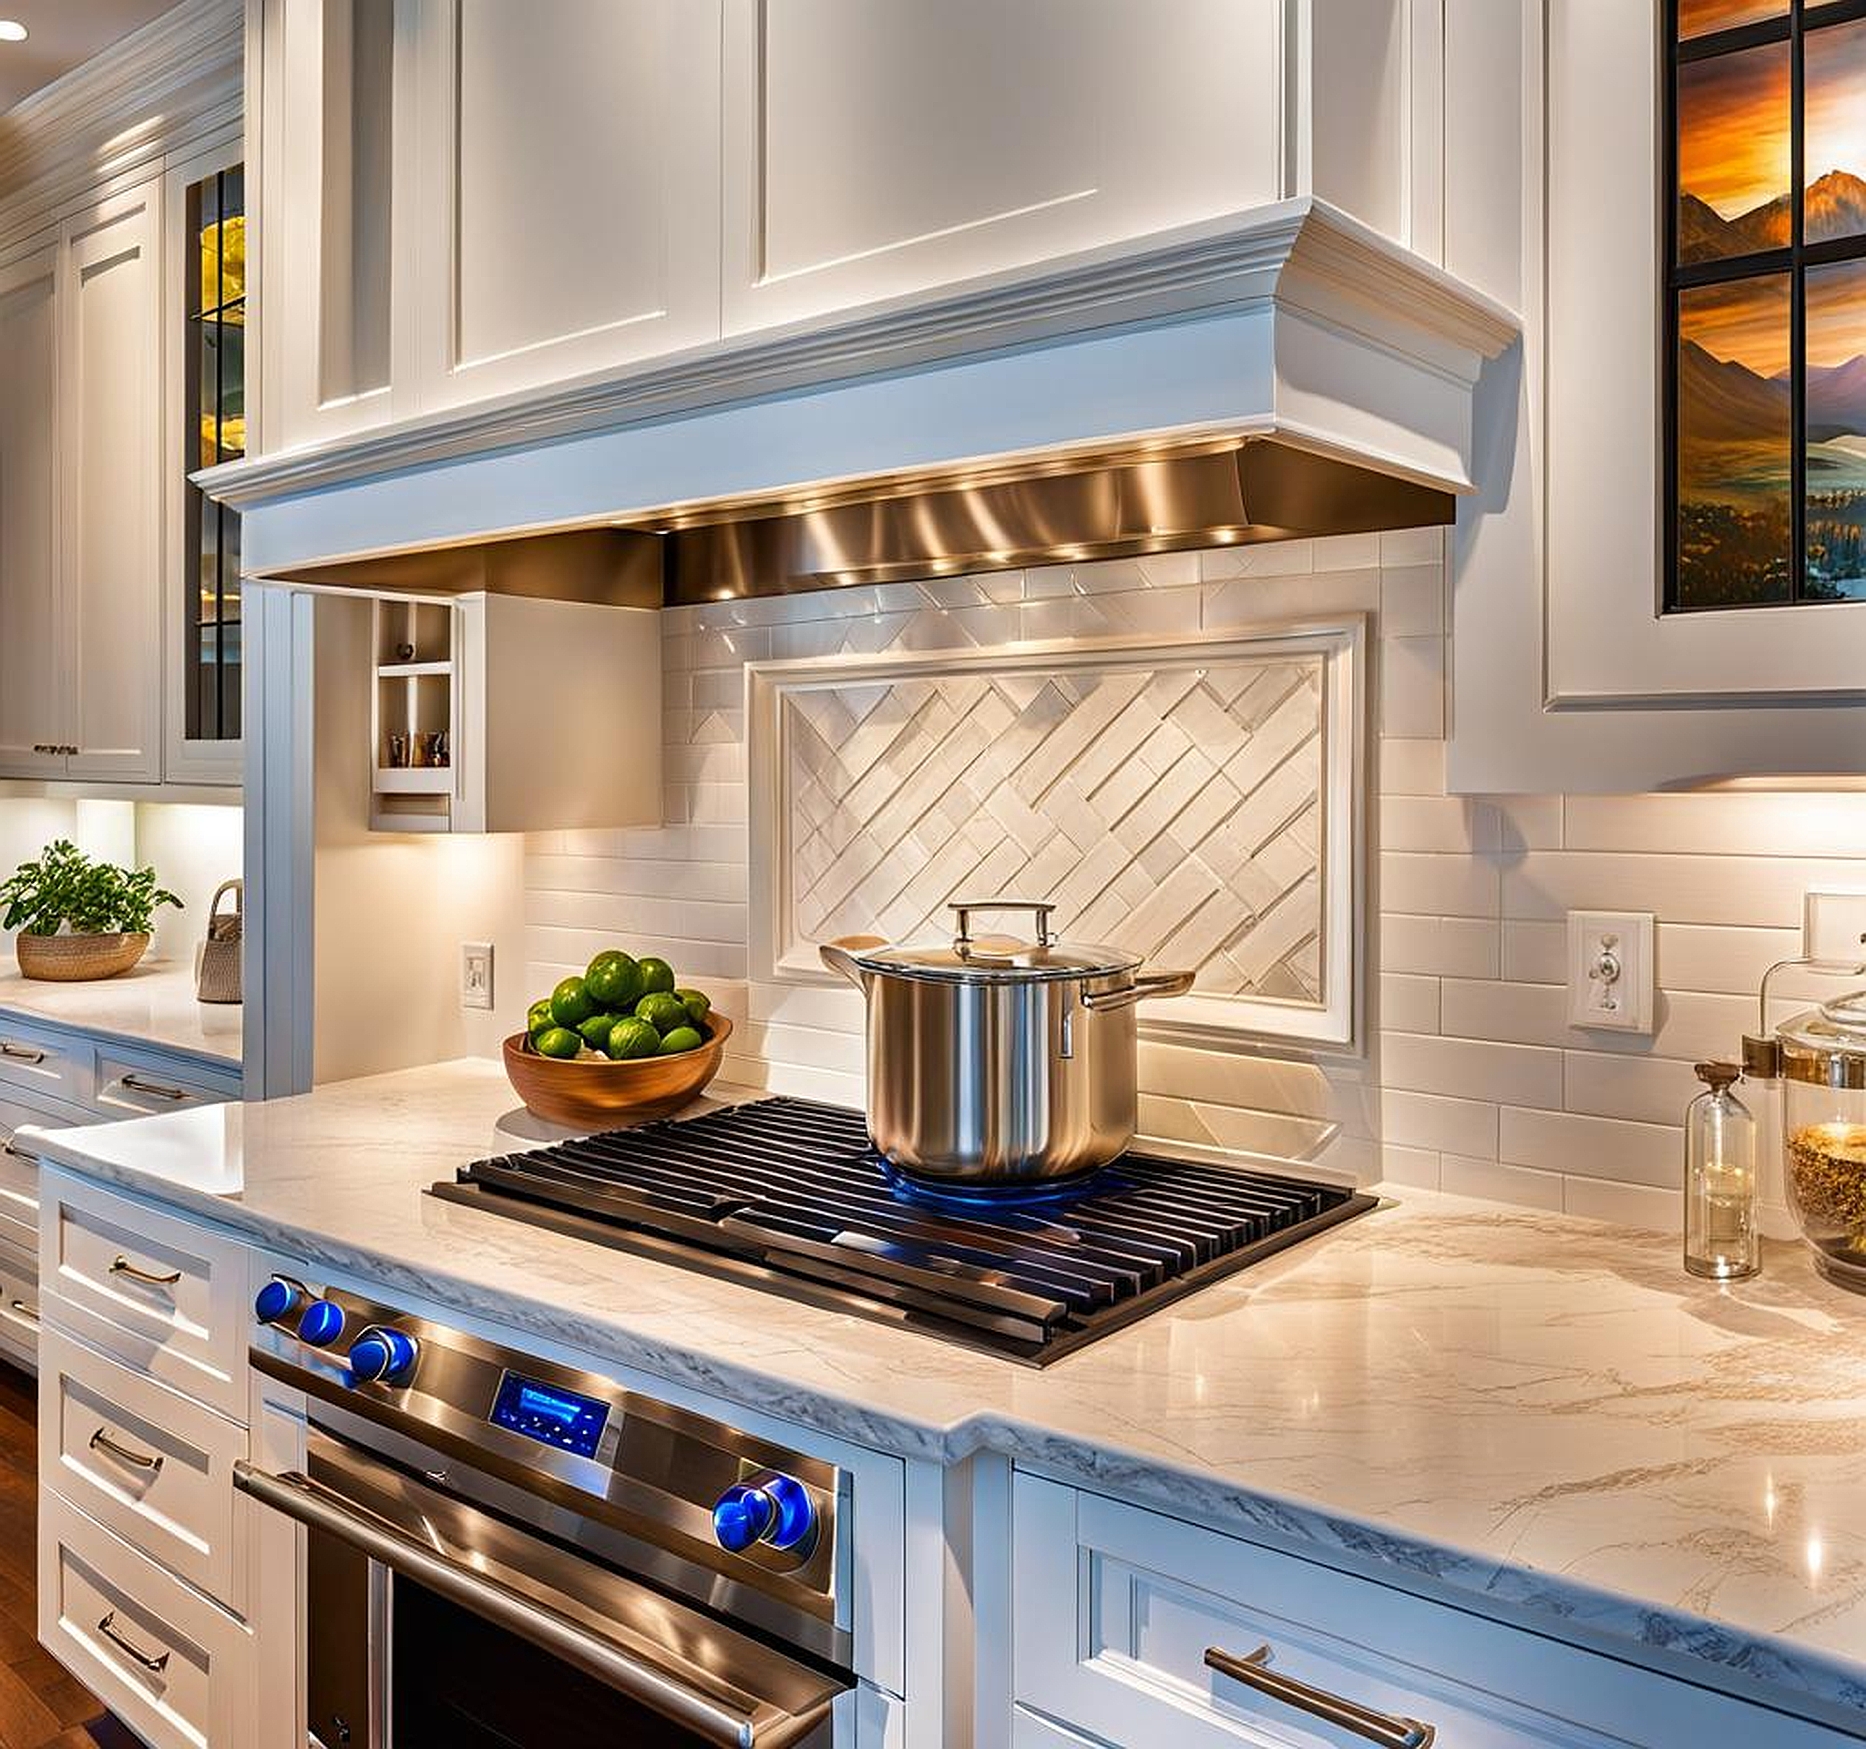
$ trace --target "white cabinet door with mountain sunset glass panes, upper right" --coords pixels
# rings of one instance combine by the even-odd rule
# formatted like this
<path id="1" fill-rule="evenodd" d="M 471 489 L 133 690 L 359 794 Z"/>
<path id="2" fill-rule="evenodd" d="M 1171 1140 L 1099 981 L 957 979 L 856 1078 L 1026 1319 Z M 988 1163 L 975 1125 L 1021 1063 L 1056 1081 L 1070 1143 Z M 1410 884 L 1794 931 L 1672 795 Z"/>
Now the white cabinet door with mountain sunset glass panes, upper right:
<path id="1" fill-rule="evenodd" d="M 1866 6 L 1549 7 L 1549 704 L 1859 702 Z"/>

